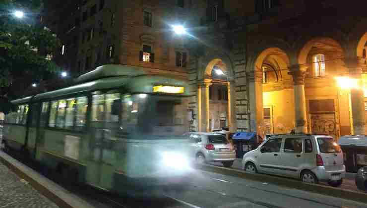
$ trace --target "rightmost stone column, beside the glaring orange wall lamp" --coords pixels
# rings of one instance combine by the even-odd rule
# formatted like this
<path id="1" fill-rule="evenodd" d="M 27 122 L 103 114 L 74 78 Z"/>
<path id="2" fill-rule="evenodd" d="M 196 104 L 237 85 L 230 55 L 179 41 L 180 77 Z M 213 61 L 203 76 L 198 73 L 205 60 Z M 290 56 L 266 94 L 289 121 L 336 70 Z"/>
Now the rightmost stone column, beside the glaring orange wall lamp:
<path id="1" fill-rule="evenodd" d="M 346 66 L 349 68 L 349 75 L 358 83 L 358 88 L 351 89 L 352 123 L 355 135 L 365 134 L 365 96 L 362 81 L 362 68 L 364 61 L 359 58 L 346 59 Z"/>

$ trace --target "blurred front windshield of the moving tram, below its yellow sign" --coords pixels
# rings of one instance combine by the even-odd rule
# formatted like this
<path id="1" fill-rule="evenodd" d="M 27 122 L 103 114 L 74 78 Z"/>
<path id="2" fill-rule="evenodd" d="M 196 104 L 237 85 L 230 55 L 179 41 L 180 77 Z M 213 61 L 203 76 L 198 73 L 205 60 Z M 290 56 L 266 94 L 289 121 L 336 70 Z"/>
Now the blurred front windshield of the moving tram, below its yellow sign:
<path id="1" fill-rule="evenodd" d="M 187 99 L 137 94 L 122 96 L 122 128 L 133 134 L 183 135 L 188 131 Z"/>

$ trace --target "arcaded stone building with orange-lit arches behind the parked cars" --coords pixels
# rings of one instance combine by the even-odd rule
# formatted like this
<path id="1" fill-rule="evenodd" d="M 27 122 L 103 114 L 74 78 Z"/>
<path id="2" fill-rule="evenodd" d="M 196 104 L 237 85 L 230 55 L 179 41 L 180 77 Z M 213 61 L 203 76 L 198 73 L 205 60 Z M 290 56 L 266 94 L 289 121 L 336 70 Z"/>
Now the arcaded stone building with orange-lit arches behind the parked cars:
<path id="1" fill-rule="evenodd" d="M 189 80 L 209 130 L 208 87 L 228 75 L 231 130 L 365 134 L 367 24 L 363 2 L 208 0 Z M 265 113 L 264 113 L 265 112 Z"/>

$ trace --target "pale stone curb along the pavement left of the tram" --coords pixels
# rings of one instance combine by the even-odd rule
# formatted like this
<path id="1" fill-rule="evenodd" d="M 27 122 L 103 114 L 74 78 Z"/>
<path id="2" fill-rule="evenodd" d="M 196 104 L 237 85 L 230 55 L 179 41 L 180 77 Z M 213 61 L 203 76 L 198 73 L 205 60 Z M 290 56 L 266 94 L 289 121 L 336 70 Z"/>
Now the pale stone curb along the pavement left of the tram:
<path id="1" fill-rule="evenodd" d="M 60 208 L 93 208 L 89 203 L 73 196 L 69 191 L 2 151 L 0 162 Z"/>

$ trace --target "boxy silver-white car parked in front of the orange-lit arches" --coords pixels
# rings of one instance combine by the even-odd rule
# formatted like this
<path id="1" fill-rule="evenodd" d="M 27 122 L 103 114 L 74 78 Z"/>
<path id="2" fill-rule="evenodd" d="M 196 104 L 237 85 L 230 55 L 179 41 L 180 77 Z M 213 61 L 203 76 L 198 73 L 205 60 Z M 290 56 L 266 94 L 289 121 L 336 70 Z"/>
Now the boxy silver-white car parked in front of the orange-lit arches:
<path id="1" fill-rule="evenodd" d="M 244 155 L 245 171 L 328 182 L 340 186 L 345 177 L 343 153 L 330 136 L 275 135 Z"/>

